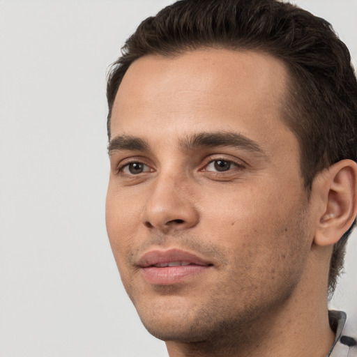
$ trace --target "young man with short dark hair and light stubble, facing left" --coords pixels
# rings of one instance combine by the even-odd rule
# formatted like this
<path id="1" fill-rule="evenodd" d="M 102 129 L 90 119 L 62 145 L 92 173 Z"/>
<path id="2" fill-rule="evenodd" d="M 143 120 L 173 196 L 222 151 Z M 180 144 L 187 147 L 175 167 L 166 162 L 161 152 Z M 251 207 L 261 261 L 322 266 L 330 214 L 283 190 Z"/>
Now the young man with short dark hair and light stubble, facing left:
<path id="1" fill-rule="evenodd" d="M 357 211 L 357 83 L 330 25 L 185 0 L 109 74 L 107 231 L 170 357 L 357 356 L 328 312 Z"/>

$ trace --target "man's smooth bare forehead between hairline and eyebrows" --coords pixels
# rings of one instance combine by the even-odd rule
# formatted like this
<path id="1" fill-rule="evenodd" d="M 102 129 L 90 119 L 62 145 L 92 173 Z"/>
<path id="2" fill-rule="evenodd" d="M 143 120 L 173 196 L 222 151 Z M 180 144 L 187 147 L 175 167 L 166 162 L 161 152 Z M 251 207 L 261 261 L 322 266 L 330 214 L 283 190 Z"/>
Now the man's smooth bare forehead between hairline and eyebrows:
<path id="1" fill-rule="evenodd" d="M 267 132 L 289 131 L 281 120 L 286 83 L 284 63 L 259 52 L 204 49 L 144 56 L 119 86 L 112 137 L 223 130 L 246 137 L 260 133 L 264 144 Z"/>

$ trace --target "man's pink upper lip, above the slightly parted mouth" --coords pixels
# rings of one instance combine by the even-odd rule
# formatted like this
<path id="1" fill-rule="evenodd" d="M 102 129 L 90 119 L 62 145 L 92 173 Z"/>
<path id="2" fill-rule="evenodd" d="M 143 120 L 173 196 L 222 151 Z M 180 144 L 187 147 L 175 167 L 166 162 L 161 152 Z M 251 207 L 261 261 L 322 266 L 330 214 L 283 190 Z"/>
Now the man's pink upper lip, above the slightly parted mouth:
<path id="1" fill-rule="evenodd" d="M 147 268 L 160 263 L 170 263 L 174 261 L 185 261 L 190 264 L 196 264 L 201 266 L 213 265 L 210 261 L 198 257 L 195 254 L 186 252 L 180 249 L 169 250 L 151 250 L 146 252 L 137 262 L 137 265 L 141 268 Z"/>

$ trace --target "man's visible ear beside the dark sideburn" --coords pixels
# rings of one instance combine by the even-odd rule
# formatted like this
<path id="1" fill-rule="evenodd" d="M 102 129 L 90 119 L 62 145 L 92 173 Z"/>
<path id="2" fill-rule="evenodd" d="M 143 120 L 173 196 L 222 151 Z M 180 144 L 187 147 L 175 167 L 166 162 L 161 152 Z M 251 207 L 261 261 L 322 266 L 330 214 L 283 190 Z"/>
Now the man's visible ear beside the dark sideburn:
<path id="1" fill-rule="evenodd" d="M 312 196 L 318 202 L 314 243 L 333 245 L 356 218 L 356 162 L 341 160 L 320 172 L 312 183 Z"/>

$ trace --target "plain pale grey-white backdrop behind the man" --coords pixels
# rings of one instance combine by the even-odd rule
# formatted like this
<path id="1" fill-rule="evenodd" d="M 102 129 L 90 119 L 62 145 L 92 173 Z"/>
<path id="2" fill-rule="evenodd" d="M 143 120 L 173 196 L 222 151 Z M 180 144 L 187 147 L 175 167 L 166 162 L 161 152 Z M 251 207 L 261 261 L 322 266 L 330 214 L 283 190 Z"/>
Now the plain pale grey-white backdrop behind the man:
<path id="1" fill-rule="evenodd" d="M 0 0 L 0 357 L 160 357 L 105 230 L 105 74 L 164 0 Z M 296 1 L 357 58 L 357 1 Z M 333 307 L 357 314 L 357 239 Z M 309 302 L 306 301 L 308 304 Z"/>

